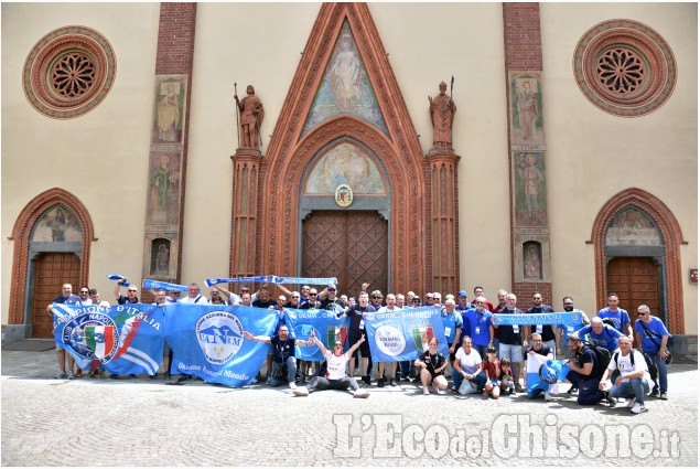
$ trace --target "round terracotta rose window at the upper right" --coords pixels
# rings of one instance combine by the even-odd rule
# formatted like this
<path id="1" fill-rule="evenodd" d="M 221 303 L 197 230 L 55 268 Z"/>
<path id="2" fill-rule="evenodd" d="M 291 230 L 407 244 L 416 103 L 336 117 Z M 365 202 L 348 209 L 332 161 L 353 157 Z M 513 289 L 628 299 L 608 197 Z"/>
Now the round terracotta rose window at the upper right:
<path id="1" fill-rule="evenodd" d="M 621 117 L 647 115 L 670 97 L 676 58 L 651 28 L 611 20 L 586 31 L 573 54 L 577 84 L 593 105 Z"/>

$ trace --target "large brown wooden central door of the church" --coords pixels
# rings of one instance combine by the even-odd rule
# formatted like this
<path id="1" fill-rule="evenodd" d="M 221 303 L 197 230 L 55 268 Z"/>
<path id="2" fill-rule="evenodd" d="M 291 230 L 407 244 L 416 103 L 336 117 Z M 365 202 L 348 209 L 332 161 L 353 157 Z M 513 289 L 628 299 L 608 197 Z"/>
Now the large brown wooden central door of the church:
<path id="1" fill-rule="evenodd" d="M 388 223 L 377 212 L 314 212 L 302 237 L 304 277 L 337 277 L 338 296 L 357 296 L 365 281 L 387 294 Z"/>

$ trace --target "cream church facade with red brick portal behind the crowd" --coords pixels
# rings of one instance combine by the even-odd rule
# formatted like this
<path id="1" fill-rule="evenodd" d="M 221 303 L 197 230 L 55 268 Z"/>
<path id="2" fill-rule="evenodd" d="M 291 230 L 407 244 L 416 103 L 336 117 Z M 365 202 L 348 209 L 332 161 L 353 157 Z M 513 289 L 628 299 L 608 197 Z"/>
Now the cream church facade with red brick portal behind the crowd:
<path id="1" fill-rule="evenodd" d="M 110 274 L 614 291 L 697 335 L 694 4 L 2 13 L 6 341 Z"/>

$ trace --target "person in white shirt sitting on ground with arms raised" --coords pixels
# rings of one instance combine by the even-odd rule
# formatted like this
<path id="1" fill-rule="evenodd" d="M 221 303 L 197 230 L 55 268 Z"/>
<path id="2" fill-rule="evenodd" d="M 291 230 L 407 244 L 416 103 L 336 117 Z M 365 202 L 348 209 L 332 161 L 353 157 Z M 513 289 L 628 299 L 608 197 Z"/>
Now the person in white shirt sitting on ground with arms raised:
<path id="1" fill-rule="evenodd" d="M 369 393 L 367 391 L 359 388 L 359 385 L 357 385 L 357 381 L 355 381 L 354 377 L 348 377 L 345 373 L 347 362 L 351 361 L 351 356 L 353 356 L 353 353 L 355 353 L 363 343 L 366 343 L 365 334 L 362 334 L 359 340 L 355 342 L 355 344 L 351 347 L 349 350 L 345 353 L 343 353 L 343 342 L 341 342 L 340 340 L 336 340 L 333 344 L 333 351 L 330 351 L 325 347 L 323 347 L 323 343 L 313 333 L 309 338 L 309 340 L 313 340 L 313 342 L 319 347 L 327 363 L 325 375 L 314 376 L 309 382 L 309 386 L 306 386 L 309 393 L 316 390 L 347 391 L 347 388 L 349 387 L 354 397 L 369 396 Z"/>

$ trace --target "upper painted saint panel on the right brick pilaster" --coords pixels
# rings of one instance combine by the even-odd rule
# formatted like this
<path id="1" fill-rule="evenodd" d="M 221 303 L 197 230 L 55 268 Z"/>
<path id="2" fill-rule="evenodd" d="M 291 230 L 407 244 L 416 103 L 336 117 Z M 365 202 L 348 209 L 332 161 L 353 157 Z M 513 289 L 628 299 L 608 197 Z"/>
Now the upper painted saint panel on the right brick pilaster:
<path id="1" fill-rule="evenodd" d="M 537 72 L 510 74 L 513 145 L 543 146 L 542 92 Z"/>

